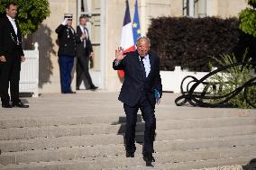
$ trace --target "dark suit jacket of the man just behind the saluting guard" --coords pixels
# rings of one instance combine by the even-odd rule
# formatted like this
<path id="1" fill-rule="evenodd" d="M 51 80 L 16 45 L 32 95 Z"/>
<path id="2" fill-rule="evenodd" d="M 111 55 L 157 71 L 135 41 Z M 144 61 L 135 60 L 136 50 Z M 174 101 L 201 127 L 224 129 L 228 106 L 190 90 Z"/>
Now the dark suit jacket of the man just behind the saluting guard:
<path id="1" fill-rule="evenodd" d="M 87 30 L 87 28 L 85 28 L 85 29 Z M 81 31 L 81 28 L 79 25 L 77 27 L 77 32 L 78 32 L 78 37 L 81 37 L 83 34 L 83 31 Z M 89 33 L 89 32 L 87 31 L 87 33 Z M 87 40 L 86 40 L 86 48 L 84 48 L 84 41 L 82 41 L 82 43 L 78 43 L 77 56 L 78 56 L 78 58 L 79 57 L 81 57 L 81 58 L 89 57 L 91 52 L 93 52 L 93 47 L 92 47 L 91 40 L 88 35 Z"/>

